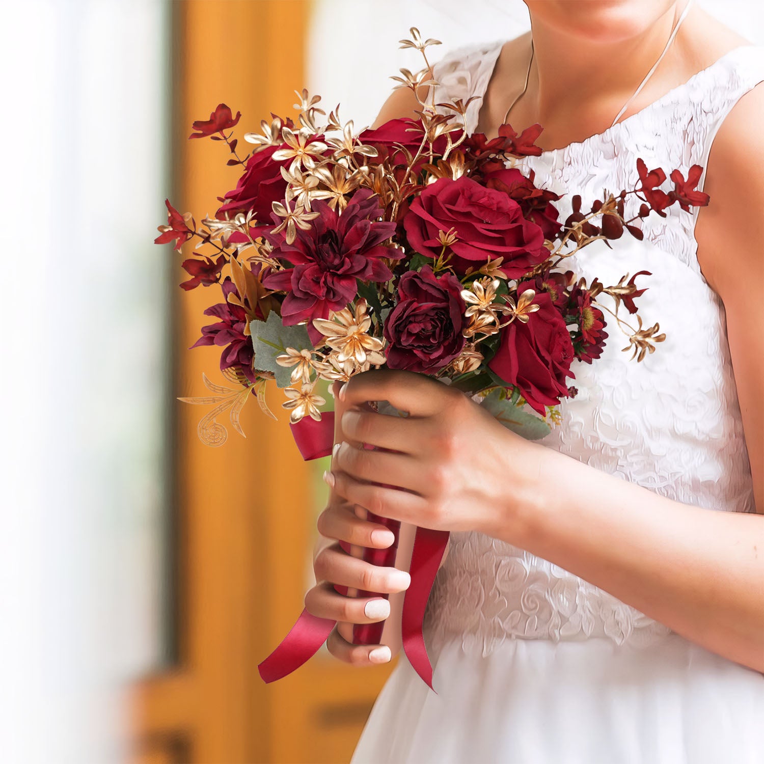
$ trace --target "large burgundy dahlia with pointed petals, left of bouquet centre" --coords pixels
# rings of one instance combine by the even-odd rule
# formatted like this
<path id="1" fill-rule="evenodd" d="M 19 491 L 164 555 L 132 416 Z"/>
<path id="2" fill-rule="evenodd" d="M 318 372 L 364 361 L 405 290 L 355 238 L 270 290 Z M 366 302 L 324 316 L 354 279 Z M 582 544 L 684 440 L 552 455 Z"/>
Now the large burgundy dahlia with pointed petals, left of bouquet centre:
<path id="1" fill-rule="evenodd" d="M 297 229 L 293 244 L 286 244 L 283 233 L 266 232 L 274 244 L 273 256 L 292 267 L 269 274 L 263 283 L 268 289 L 286 292 L 281 305 L 284 325 L 307 321 L 315 342 L 319 334 L 312 319 L 326 319 L 333 310 L 345 308 L 358 293 L 356 279 L 390 280 L 393 274 L 384 259 L 397 260 L 403 252 L 384 246 L 395 232 L 395 223 L 377 220 L 382 210 L 371 189 L 356 191 L 342 214 L 322 200 L 313 202 L 311 209 L 319 217 L 307 231 Z M 274 214 L 274 221 L 278 220 Z"/>

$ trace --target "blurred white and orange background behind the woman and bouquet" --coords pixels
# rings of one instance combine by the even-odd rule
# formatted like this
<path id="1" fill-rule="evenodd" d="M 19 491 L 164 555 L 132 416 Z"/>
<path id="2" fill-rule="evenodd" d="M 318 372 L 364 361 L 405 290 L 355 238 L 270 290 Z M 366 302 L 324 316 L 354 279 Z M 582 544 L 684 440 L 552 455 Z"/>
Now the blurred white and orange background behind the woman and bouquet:
<path id="1" fill-rule="evenodd" d="M 764 39 L 756 0 L 701 5 Z M 24 239 L 0 280 L 0 761 L 346 762 L 394 661 L 324 648 L 272 685 L 257 673 L 313 583 L 324 465 L 300 460 L 272 394 L 280 422 L 249 403 L 246 439 L 199 442 L 206 409 L 176 397 L 205 394 L 202 371 L 224 383 L 215 348 L 186 351 L 218 296 L 179 290 L 183 258 L 152 242 L 166 197 L 199 222 L 235 186 L 223 144 L 187 140 L 219 102 L 239 138 L 303 86 L 361 128 L 420 66 L 398 50 L 411 26 L 437 59 L 522 33 L 525 7 L 0 6 L 0 194 Z"/>

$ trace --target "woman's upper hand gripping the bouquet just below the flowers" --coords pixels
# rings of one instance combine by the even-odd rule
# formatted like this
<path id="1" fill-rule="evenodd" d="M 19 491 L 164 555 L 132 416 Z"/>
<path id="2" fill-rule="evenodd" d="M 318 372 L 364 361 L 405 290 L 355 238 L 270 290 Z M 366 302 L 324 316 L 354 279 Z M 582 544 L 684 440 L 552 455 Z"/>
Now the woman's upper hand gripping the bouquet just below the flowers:
<path id="1" fill-rule="evenodd" d="M 465 393 L 423 374 L 357 374 L 338 392 L 345 442 L 327 482 L 348 503 L 426 528 L 523 537 L 556 452 L 504 428 Z M 406 417 L 361 410 L 387 400 Z M 381 450 L 369 450 L 362 444 Z"/>

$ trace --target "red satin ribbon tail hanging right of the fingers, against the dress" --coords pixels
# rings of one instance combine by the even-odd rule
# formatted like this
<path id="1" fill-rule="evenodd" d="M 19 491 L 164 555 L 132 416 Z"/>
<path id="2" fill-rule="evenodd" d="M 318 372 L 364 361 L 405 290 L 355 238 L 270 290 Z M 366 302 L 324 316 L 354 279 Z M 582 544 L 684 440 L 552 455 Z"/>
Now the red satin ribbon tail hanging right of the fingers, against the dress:
<path id="1" fill-rule="evenodd" d="M 411 584 L 403 595 L 401 615 L 403 652 L 406 653 L 406 658 L 409 659 L 414 671 L 433 692 L 435 688 L 432 687 L 432 664 L 427 655 L 422 622 L 449 535 L 448 531 L 443 530 L 416 529 L 411 552 Z"/>

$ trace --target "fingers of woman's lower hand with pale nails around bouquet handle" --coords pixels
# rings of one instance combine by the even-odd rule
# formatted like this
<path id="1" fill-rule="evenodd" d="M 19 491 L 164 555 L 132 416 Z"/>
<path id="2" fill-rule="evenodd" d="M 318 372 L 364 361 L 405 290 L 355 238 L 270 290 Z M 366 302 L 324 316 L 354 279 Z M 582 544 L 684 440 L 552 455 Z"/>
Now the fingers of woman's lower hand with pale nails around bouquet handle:
<path id="1" fill-rule="evenodd" d="M 354 511 L 350 504 L 332 496 L 329 506 L 319 515 L 319 533 L 326 539 L 338 539 L 324 545 L 313 560 L 318 583 L 308 591 L 305 606 L 319 618 L 331 618 L 338 624 L 329 634 L 326 646 L 335 658 L 353 665 L 387 663 L 392 657 L 387 645 L 354 645 L 353 624 L 373 623 L 390 615 L 390 602 L 384 597 L 345 597 L 334 584 L 351 589 L 395 593 L 406 590 L 411 578 L 406 571 L 383 568 L 348 555 L 339 545 L 386 549 L 393 542 L 393 533 L 377 523 L 363 520 L 363 510 Z M 350 592 L 348 592 L 350 594 Z"/>

